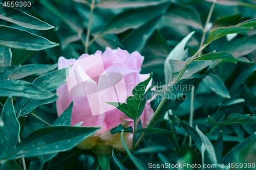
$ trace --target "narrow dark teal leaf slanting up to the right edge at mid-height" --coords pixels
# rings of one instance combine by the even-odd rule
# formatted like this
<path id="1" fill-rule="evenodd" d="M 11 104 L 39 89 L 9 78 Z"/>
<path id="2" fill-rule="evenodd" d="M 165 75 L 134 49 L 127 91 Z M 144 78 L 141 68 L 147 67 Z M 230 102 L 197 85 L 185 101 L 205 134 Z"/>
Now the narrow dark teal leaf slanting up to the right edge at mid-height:
<path id="1" fill-rule="evenodd" d="M 256 70 L 256 63 L 252 64 L 249 68 L 245 69 L 241 74 L 237 77 L 237 79 L 233 82 L 230 87 L 230 93 L 233 93 L 246 79 L 248 79 L 253 72 Z"/>

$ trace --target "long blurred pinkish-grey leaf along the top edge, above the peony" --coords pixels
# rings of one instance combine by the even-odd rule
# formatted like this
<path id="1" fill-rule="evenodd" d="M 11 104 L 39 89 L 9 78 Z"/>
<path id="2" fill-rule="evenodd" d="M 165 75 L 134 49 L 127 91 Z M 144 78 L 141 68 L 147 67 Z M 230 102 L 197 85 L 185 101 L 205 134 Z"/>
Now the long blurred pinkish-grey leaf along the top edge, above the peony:
<path id="1" fill-rule="evenodd" d="M 147 6 L 155 6 L 162 3 L 168 2 L 167 0 L 102 0 L 96 7 L 99 8 L 138 8 L 138 7 L 147 7 Z"/>

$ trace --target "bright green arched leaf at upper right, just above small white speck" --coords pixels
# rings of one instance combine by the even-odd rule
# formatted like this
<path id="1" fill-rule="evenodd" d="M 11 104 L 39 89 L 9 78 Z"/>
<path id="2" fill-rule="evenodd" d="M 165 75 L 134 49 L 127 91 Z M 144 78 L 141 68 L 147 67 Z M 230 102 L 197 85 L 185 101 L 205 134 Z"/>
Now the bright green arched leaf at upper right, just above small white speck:
<path id="1" fill-rule="evenodd" d="M 238 27 L 238 26 L 230 26 L 230 27 L 222 27 L 222 28 L 217 28 L 214 31 L 210 33 L 208 36 L 208 39 L 205 44 L 209 44 L 212 41 L 217 40 L 220 37 L 223 37 L 228 34 L 234 34 L 234 33 L 244 33 L 249 30 L 252 30 L 253 28 L 245 28 L 245 27 Z"/>

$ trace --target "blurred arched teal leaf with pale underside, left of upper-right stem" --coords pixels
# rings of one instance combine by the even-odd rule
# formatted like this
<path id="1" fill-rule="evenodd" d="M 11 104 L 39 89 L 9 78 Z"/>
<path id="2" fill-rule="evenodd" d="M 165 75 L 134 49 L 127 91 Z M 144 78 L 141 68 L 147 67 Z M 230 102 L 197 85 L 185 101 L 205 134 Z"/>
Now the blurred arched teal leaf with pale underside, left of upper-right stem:
<path id="1" fill-rule="evenodd" d="M 203 29 L 197 10 L 191 6 L 170 5 L 170 8 L 163 16 L 162 22 L 168 26 L 184 24 L 196 29 Z"/>

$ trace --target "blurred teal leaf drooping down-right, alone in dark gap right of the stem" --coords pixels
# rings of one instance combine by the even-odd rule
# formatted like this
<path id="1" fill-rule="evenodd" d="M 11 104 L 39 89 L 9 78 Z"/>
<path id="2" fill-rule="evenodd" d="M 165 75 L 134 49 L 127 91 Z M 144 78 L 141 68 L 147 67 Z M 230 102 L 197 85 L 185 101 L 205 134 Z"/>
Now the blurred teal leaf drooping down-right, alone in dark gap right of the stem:
<path id="1" fill-rule="evenodd" d="M 210 73 L 208 76 L 206 76 L 203 79 L 203 82 L 206 84 L 207 87 L 209 87 L 212 91 L 214 91 L 216 94 L 222 96 L 223 98 L 230 99 L 229 92 L 221 80 L 219 76 Z"/>

